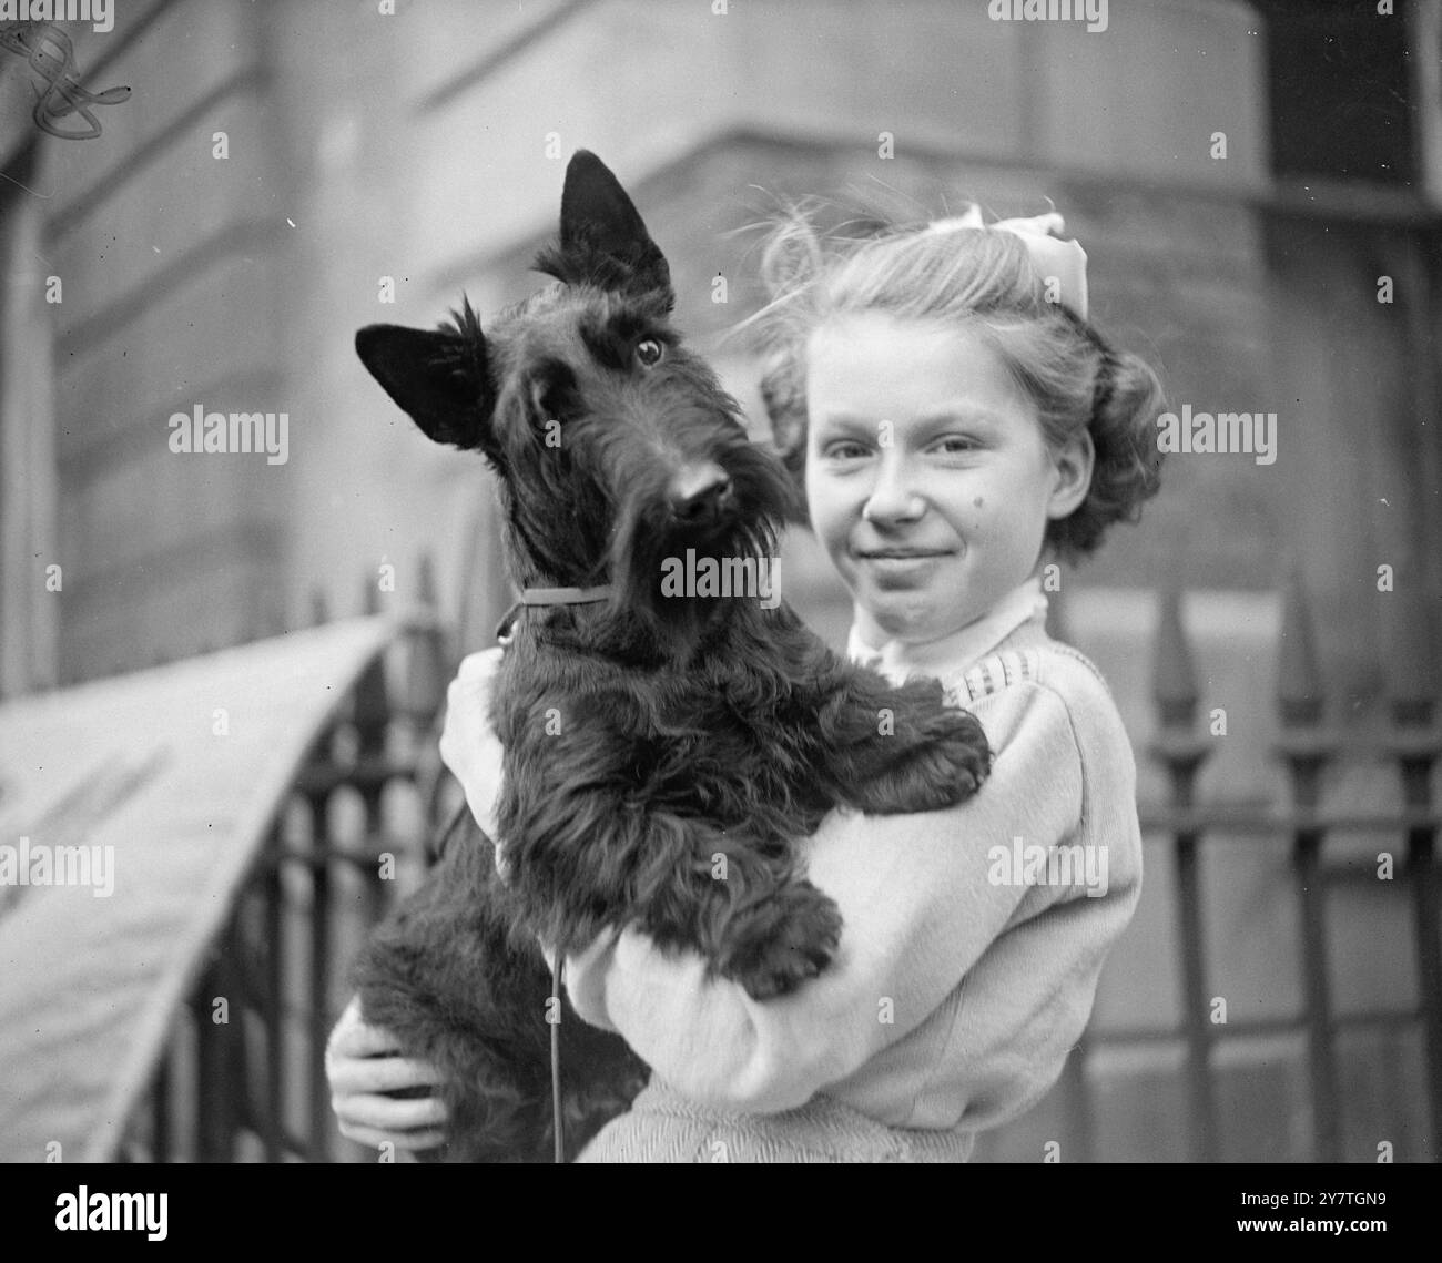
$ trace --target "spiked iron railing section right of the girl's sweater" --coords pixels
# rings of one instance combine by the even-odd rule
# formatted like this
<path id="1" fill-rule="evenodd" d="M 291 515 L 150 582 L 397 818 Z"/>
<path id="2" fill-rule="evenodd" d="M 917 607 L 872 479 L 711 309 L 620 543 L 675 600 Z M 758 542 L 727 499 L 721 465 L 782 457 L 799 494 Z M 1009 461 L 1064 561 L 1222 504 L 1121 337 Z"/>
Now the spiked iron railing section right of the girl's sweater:
<path id="1" fill-rule="evenodd" d="M 1399 604 L 1403 601 L 1399 598 Z M 1224 1045 L 1259 1035 L 1296 1034 L 1305 1040 L 1306 1113 L 1309 1142 L 1301 1148 L 1311 1161 L 1377 1161 L 1374 1152 L 1345 1152 L 1344 1097 L 1340 1090 L 1340 1037 L 1357 1031 L 1399 1032 L 1422 1037 L 1425 1100 L 1415 1112 L 1425 1122 L 1426 1138 L 1413 1159 L 1439 1161 L 1442 1149 L 1442 943 L 1438 934 L 1438 868 L 1435 842 L 1442 816 L 1432 800 L 1432 770 L 1442 754 L 1438 728 L 1438 678 L 1435 647 L 1425 629 L 1420 603 L 1392 623 L 1394 643 L 1386 646 L 1392 662 L 1405 669 L 1389 675 L 1389 732 L 1371 748 L 1347 738 L 1327 724 L 1322 672 L 1312 636 L 1306 594 L 1293 577 L 1283 597 L 1282 637 L 1278 656 L 1279 740 L 1275 755 L 1282 770 L 1279 807 L 1229 806 L 1198 802 L 1198 773 L 1216 750 L 1216 741 L 1198 731 L 1200 693 L 1193 655 L 1181 619 L 1178 588 L 1162 594 L 1158 639 L 1154 650 L 1152 698 L 1158 728 L 1148 750 L 1167 777 L 1168 799 L 1144 806 L 1142 833 L 1169 843 L 1174 887 L 1168 900 L 1178 934 L 1181 1021 L 1172 1028 L 1090 1031 L 1070 1058 L 1060 1091 L 1070 1127 L 1070 1158 L 1096 1156 L 1094 1087 L 1089 1065 L 1100 1050 L 1181 1045 L 1184 1080 L 1185 1156 L 1195 1162 L 1236 1161 L 1227 1152 L 1220 1104 Z M 1325 773 L 1347 760 L 1393 761 L 1397 773 L 1394 806 L 1384 812 L 1355 812 L 1324 806 Z M 1386 891 L 1396 916 L 1413 923 L 1416 1003 L 1368 1008 L 1340 1015 L 1328 963 L 1328 894 L 1363 874 L 1355 865 L 1328 864 L 1327 842 L 1340 835 L 1374 835 L 1383 848 L 1402 855 L 1392 879 L 1376 882 Z M 1211 839 L 1286 839 L 1291 846 L 1291 884 L 1298 904 L 1301 943 L 1301 995 L 1291 1016 L 1214 1021 L 1218 992 L 1208 978 L 1204 930 L 1203 865 Z M 1390 841 L 1389 841 L 1390 839 Z M 1216 858 L 1216 848 L 1211 858 Z M 1151 897 L 1151 895 L 1148 895 Z M 1403 973 L 1399 962 L 1394 973 Z M 1400 988 L 1399 988 L 1400 989 Z"/>

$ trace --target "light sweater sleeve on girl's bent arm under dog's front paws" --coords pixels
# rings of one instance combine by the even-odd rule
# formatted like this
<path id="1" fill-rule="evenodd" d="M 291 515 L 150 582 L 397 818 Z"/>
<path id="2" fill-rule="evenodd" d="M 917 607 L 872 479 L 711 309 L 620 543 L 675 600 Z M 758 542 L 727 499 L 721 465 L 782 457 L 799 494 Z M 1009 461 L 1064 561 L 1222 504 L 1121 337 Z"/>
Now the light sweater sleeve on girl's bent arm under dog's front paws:
<path id="1" fill-rule="evenodd" d="M 1058 897 L 995 879 L 994 849 L 1054 846 L 1082 815 L 1082 761 L 1056 692 L 1018 683 L 972 709 L 995 751 L 981 793 L 943 812 L 832 812 L 810 839 L 810 879 L 844 917 L 816 979 L 753 1001 L 708 980 L 698 954 L 626 930 L 568 957 L 577 1012 L 619 1031 L 682 1094 L 751 1113 L 803 1104 L 914 1031 L 1014 920 Z"/>

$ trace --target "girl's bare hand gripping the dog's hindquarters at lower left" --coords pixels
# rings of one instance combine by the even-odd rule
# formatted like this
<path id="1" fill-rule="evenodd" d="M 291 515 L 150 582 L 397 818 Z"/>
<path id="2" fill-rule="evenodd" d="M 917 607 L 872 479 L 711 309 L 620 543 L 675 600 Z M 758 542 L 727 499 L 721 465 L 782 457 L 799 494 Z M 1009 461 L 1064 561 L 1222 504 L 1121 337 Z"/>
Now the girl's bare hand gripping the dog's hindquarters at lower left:
<path id="1" fill-rule="evenodd" d="M 330 1109 L 348 1140 L 373 1148 L 389 1142 L 407 1151 L 446 1143 L 446 1106 L 440 1097 L 385 1096 L 435 1087 L 440 1071 L 402 1057 L 389 1032 L 360 1016 L 359 996 L 346 1005 L 326 1042 L 326 1080 Z"/>

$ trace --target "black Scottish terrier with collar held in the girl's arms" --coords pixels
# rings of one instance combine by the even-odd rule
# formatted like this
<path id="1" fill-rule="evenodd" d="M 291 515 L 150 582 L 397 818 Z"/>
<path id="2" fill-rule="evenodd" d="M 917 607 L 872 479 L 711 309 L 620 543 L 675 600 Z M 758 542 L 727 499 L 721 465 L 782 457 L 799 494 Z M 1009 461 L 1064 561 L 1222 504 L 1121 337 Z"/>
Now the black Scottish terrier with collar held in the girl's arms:
<path id="1" fill-rule="evenodd" d="M 536 268 L 557 284 L 489 333 L 464 303 L 437 332 L 356 334 L 428 438 L 499 474 L 523 587 L 490 709 L 508 877 L 472 829 L 358 965 L 368 1021 L 447 1076 L 453 1159 L 545 1156 L 535 936 L 574 952 L 634 926 L 754 998 L 787 992 L 841 931 L 797 839 L 839 805 L 950 806 L 989 767 L 981 725 L 934 681 L 852 666 L 766 593 L 675 591 L 682 559 L 689 575 L 764 572 L 796 487 L 682 346 L 666 260 L 584 150 Z M 584 1140 L 646 1071 L 575 1018 L 561 1034 Z"/>

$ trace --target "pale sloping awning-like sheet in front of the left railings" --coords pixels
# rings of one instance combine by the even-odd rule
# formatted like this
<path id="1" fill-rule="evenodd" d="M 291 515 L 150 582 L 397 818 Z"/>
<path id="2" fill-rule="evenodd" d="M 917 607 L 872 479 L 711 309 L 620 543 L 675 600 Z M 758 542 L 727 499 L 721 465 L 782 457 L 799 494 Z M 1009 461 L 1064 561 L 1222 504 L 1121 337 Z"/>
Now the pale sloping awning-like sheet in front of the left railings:
<path id="1" fill-rule="evenodd" d="M 105 1161 L 369 617 L 0 706 L 0 1161 Z M 108 888 L 107 888 L 108 887 Z"/>

